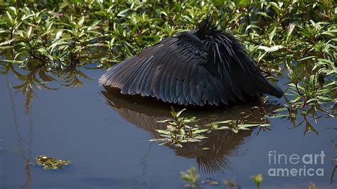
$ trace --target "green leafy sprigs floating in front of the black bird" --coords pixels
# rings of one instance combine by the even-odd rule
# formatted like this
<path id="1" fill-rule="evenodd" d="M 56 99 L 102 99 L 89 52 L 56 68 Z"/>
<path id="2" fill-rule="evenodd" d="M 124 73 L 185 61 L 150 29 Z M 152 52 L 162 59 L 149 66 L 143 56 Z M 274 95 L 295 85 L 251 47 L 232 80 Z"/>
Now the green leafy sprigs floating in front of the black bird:
<path id="1" fill-rule="evenodd" d="M 262 100 L 263 102 L 264 100 Z M 264 104 L 265 100 L 262 104 Z M 252 122 L 247 119 L 253 116 L 255 109 L 259 109 L 260 122 Z M 237 120 L 225 120 L 225 121 L 215 121 L 204 126 L 199 126 L 194 124 L 193 126 L 188 124 L 193 124 L 196 122 L 196 117 L 181 117 L 181 113 L 186 109 L 182 109 L 176 112 L 173 107 L 171 107 L 172 119 L 166 119 L 162 121 L 157 121 L 158 123 L 166 123 L 166 129 L 156 129 L 159 135 L 163 138 L 151 139 L 149 141 L 160 141 L 159 145 L 173 145 L 176 147 L 183 147 L 183 143 L 188 142 L 199 142 L 208 137 L 205 134 L 210 134 L 215 130 L 230 130 L 234 133 L 238 133 L 240 130 L 250 130 L 250 127 L 260 126 L 260 129 L 268 129 L 270 126 L 269 120 L 267 119 L 267 112 L 265 112 L 263 107 L 252 107 L 252 113 L 248 114 L 242 119 Z M 245 113 L 245 112 L 243 112 Z M 202 148 L 202 150 L 209 150 L 210 148 Z"/>

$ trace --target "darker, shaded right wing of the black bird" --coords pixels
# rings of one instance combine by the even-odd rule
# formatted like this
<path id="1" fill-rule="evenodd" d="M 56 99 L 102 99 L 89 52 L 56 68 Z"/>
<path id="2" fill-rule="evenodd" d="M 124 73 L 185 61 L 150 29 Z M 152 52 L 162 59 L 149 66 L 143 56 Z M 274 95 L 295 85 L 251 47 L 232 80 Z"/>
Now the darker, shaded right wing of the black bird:
<path id="1" fill-rule="evenodd" d="M 245 102 L 262 93 L 282 97 L 282 90 L 260 73 L 255 61 L 234 36 L 218 33 L 210 36 L 204 45 L 210 57 L 206 69 L 218 75 L 228 101 Z"/>

